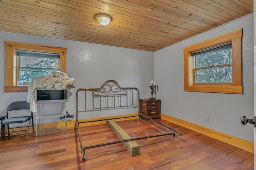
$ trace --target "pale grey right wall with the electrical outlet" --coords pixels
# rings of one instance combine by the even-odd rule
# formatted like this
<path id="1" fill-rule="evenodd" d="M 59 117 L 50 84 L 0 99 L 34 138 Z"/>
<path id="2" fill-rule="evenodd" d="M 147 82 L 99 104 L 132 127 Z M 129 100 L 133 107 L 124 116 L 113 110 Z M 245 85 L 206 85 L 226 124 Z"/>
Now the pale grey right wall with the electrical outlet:
<path id="1" fill-rule="evenodd" d="M 244 94 L 184 92 L 183 48 L 243 29 L 242 78 Z M 253 126 L 244 126 L 240 117 L 254 115 L 253 14 L 196 35 L 154 53 L 154 78 L 159 84 L 161 112 L 216 131 L 253 141 Z M 209 117 L 209 122 L 205 117 Z"/>

